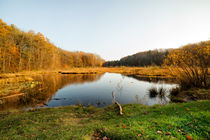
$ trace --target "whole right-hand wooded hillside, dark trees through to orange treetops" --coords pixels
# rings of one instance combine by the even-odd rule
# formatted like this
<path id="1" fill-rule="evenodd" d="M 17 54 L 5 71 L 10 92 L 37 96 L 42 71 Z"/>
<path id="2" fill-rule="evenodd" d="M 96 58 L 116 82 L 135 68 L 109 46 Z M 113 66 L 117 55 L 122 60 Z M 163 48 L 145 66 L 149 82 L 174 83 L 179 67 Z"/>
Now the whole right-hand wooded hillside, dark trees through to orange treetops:
<path id="1" fill-rule="evenodd" d="M 186 49 L 187 48 L 187 49 Z M 196 49 L 195 49 L 196 48 Z M 205 64 L 202 64 L 202 67 L 209 67 L 209 57 L 210 57 L 210 41 L 201 41 L 198 43 L 187 44 L 177 49 L 161 49 L 161 50 L 149 50 L 145 52 L 139 52 L 134 55 L 126 56 L 116 61 L 107 61 L 103 64 L 104 67 L 113 67 L 113 66 L 161 66 L 164 64 L 164 61 L 168 58 L 169 54 L 174 52 L 180 53 L 180 58 L 176 61 L 181 61 L 185 58 L 190 63 L 196 63 L 196 66 L 200 65 L 196 61 L 202 61 Z M 201 53 L 202 52 L 202 53 Z M 190 54 L 190 55 L 189 55 Z M 191 57 L 195 57 L 194 61 L 188 60 Z M 187 59 L 188 58 L 188 59 Z M 177 62 L 177 63 L 178 63 Z M 180 62 L 179 62 L 180 63 Z M 186 62 L 185 62 L 186 63 Z M 207 63 L 207 64 L 206 64 Z M 195 64 L 193 64 L 195 65 Z"/>

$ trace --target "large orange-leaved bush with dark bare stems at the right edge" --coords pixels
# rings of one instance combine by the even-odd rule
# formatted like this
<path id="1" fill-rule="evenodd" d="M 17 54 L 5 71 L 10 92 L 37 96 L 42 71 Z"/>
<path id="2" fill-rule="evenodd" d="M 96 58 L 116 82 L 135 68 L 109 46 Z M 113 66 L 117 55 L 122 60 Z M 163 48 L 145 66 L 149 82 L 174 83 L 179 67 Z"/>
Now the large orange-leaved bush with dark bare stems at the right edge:
<path id="1" fill-rule="evenodd" d="M 188 44 L 170 52 L 165 64 L 182 88 L 209 87 L 210 41 Z"/>

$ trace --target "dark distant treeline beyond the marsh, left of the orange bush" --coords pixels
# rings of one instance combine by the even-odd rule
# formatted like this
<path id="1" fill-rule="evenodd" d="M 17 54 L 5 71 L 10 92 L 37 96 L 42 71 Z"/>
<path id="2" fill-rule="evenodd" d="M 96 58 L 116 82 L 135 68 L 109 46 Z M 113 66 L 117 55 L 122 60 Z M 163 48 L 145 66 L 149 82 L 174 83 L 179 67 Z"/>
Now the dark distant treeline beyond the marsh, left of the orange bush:
<path id="1" fill-rule="evenodd" d="M 107 61 L 103 64 L 104 67 L 113 66 L 160 66 L 171 50 L 149 50 L 139 52 L 134 55 L 126 56 L 116 61 Z"/>

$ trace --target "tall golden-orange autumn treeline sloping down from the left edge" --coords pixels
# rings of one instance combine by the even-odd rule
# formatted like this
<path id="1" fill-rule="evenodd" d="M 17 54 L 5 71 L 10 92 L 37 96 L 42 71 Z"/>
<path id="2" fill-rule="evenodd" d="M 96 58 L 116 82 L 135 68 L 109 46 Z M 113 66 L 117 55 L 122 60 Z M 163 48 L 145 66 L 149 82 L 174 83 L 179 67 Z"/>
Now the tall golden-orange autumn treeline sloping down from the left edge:
<path id="1" fill-rule="evenodd" d="M 62 50 L 41 33 L 21 31 L 0 19 L 0 73 L 93 67 L 103 62 L 92 53 Z"/>

